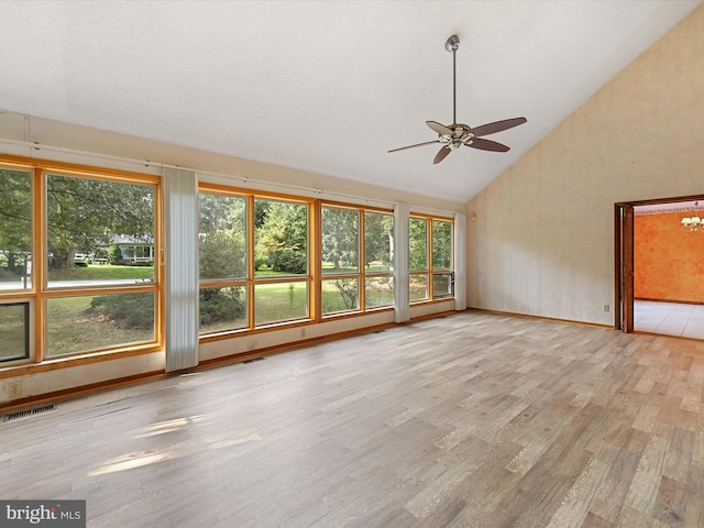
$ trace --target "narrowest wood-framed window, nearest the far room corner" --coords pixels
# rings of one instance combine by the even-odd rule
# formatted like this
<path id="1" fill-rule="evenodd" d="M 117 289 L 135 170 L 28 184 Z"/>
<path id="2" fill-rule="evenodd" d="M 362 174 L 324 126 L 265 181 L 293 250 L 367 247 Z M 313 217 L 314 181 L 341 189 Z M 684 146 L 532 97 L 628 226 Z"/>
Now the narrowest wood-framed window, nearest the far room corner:
<path id="1" fill-rule="evenodd" d="M 411 217 L 408 223 L 410 301 L 453 295 L 453 223 L 451 220 Z"/>

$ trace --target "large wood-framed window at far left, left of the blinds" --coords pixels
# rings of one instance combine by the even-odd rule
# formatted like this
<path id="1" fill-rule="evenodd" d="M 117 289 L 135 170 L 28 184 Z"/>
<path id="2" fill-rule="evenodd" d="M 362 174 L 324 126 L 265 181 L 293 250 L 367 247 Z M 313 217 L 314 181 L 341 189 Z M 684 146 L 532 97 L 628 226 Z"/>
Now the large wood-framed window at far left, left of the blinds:
<path id="1" fill-rule="evenodd" d="M 160 345 L 157 178 L 3 166 L 0 190 L 0 361 Z"/>

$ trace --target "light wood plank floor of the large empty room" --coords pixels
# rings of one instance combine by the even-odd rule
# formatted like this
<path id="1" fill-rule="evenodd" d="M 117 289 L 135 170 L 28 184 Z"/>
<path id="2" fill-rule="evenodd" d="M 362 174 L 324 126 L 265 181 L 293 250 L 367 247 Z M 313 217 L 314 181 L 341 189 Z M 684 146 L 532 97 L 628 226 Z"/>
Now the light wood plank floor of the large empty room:
<path id="1" fill-rule="evenodd" d="M 704 342 L 464 312 L 0 422 L 88 526 L 701 527 Z"/>

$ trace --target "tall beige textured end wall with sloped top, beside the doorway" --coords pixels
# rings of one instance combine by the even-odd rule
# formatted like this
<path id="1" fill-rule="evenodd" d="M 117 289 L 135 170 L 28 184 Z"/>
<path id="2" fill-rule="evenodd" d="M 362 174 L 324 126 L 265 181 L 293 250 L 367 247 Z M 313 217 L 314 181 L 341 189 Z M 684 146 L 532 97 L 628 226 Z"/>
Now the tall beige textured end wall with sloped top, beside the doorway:
<path id="1" fill-rule="evenodd" d="M 613 324 L 614 202 L 704 193 L 703 57 L 700 6 L 466 205 L 468 306 Z"/>

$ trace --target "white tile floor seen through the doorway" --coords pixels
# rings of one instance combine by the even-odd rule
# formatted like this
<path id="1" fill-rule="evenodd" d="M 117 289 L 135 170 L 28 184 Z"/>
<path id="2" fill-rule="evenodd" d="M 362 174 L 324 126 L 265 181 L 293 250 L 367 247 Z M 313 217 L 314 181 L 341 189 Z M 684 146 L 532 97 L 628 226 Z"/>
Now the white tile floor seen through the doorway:
<path id="1" fill-rule="evenodd" d="M 704 305 L 634 301 L 634 329 L 641 332 L 704 339 Z"/>

